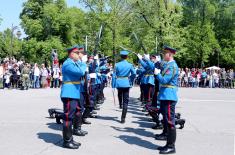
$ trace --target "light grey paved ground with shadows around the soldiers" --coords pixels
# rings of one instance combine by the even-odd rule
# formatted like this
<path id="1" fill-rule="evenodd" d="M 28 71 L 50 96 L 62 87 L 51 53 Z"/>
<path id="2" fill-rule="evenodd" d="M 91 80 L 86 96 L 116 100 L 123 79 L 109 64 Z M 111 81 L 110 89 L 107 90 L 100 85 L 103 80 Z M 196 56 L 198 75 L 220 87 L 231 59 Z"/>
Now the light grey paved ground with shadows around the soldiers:
<path id="1" fill-rule="evenodd" d="M 107 100 L 89 134 L 75 137 L 79 150 L 61 147 L 61 126 L 48 118 L 47 110 L 62 107 L 59 89 L 0 90 L 1 155 L 156 155 L 165 143 L 154 140 L 150 118 L 140 109 L 139 88 L 133 88 L 126 124 L 120 124 L 121 111 L 114 105 L 112 91 L 105 89 Z M 233 155 L 235 137 L 235 90 L 186 89 L 179 91 L 177 112 L 186 118 L 177 130 L 176 155 Z M 116 98 L 117 102 L 117 98 Z"/>

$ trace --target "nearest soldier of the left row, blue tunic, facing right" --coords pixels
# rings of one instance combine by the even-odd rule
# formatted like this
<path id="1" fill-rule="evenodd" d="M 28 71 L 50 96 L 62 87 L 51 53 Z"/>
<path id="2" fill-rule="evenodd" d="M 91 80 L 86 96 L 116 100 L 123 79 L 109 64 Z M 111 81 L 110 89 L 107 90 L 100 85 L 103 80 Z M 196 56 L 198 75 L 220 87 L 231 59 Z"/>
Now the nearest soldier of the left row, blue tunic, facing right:
<path id="1" fill-rule="evenodd" d="M 63 102 L 63 146 L 69 149 L 78 149 L 81 145 L 73 140 L 74 135 L 85 134 L 79 126 L 81 119 L 80 105 L 80 80 L 84 76 L 86 67 L 78 63 L 86 55 L 78 46 L 67 49 L 69 57 L 63 63 L 63 85 L 61 88 L 61 100 Z M 73 127 L 73 129 L 72 129 Z"/>

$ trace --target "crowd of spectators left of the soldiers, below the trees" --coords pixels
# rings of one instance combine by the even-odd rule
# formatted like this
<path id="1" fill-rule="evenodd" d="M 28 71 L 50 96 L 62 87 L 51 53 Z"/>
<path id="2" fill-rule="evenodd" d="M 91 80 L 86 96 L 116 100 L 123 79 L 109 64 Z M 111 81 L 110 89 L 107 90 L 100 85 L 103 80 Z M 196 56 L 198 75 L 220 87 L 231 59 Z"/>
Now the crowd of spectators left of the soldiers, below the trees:
<path id="1" fill-rule="evenodd" d="M 0 88 L 59 88 L 62 75 L 59 65 L 30 64 L 6 57 L 0 63 Z"/>

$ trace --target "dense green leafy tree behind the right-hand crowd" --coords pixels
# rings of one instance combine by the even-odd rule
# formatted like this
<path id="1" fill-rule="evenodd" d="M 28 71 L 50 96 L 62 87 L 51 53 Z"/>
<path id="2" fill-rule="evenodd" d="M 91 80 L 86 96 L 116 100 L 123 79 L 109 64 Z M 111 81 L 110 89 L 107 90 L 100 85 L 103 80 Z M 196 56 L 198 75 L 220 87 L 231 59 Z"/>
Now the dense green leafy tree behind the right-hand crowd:
<path id="1" fill-rule="evenodd" d="M 215 17 L 216 4 L 210 0 L 182 0 L 184 19 L 181 25 L 186 28 L 186 60 L 194 67 L 210 65 L 209 57 L 220 49 L 215 37 L 212 20 Z"/>

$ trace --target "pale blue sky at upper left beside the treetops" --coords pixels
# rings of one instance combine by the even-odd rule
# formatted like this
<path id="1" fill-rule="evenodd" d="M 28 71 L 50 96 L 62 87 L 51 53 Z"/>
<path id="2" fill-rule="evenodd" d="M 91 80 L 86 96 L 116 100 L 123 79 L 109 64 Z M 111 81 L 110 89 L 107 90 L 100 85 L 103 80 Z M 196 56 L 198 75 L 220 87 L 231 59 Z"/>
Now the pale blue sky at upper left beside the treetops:
<path id="1" fill-rule="evenodd" d="M 20 28 L 19 15 L 22 11 L 22 4 L 27 0 L 0 0 L 0 31 L 4 31 L 7 28 L 11 28 L 12 24 L 18 26 L 23 33 L 22 37 L 25 36 L 23 30 Z M 68 6 L 78 6 L 79 0 L 66 0 Z"/>

